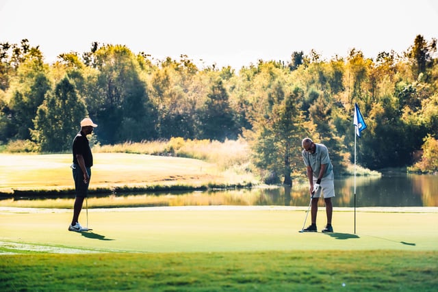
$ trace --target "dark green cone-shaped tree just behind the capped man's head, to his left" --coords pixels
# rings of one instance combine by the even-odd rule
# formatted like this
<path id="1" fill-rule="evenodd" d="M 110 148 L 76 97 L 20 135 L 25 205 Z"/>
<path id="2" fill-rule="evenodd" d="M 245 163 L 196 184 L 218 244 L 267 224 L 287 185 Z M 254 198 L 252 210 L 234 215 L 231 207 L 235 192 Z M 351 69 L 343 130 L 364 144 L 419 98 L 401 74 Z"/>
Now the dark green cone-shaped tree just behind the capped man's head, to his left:
<path id="1" fill-rule="evenodd" d="M 73 83 L 65 77 L 57 83 L 55 92 L 49 92 L 47 99 L 38 107 L 32 137 L 42 151 L 69 150 L 84 116 L 86 107 L 77 96 Z"/>

